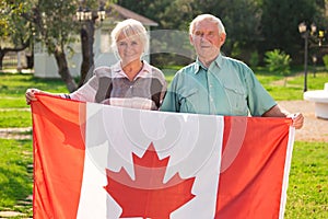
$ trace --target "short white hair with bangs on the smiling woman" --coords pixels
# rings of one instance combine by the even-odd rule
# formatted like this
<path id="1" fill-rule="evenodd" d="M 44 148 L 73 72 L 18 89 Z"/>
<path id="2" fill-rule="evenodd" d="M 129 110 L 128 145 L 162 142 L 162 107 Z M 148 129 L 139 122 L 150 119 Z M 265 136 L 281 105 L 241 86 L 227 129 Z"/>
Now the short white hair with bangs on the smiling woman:
<path id="1" fill-rule="evenodd" d="M 110 34 L 112 48 L 115 53 L 117 53 L 117 42 L 121 34 L 126 37 L 133 37 L 133 36 L 139 37 L 143 45 L 143 51 L 148 51 L 149 36 L 145 27 L 142 25 L 141 22 L 133 19 L 127 19 L 125 21 L 117 23 L 117 25 L 115 26 L 115 28 L 112 31 Z"/>

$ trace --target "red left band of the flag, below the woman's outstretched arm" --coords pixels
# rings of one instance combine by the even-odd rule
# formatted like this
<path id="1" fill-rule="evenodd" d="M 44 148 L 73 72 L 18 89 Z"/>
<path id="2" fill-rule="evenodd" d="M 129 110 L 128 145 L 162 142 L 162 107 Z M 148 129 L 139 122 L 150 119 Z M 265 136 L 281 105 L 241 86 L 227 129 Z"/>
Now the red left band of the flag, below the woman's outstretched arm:
<path id="1" fill-rule="evenodd" d="M 75 218 L 84 163 L 85 104 L 46 95 L 37 99 L 32 102 L 34 218 Z"/>

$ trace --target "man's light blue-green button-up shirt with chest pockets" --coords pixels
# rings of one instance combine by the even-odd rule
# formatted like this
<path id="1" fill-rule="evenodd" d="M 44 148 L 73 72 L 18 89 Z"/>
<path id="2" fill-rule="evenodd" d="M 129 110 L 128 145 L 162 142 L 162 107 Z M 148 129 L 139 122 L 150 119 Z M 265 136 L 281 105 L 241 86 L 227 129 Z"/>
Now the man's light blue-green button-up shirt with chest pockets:
<path id="1" fill-rule="evenodd" d="M 208 69 L 198 59 L 180 69 L 161 111 L 261 116 L 276 104 L 248 66 L 219 55 Z"/>

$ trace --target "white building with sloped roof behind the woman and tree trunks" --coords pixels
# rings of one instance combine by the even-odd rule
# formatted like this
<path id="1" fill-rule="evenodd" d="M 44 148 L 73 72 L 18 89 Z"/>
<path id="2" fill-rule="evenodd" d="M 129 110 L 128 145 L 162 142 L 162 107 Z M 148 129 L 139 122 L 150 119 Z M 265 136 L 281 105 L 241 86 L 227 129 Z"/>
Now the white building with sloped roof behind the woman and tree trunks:
<path id="1" fill-rule="evenodd" d="M 109 9 L 106 9 L 106 18 L 102 24 L 95 26 L 94 35 L 94 64 L 98 66 L 109 66 L 117 61 L 115 55 L 110 49 L 110 32 L 117 22 L 125 19 L 134 19 L 140 21 L 148 31 L 151 26 L 156 26 L 157 23 L 137 14 L 128 9 L 112 3 Z M 69 69 L 72 77 L 80 76 L 82 64 L 81 43 L 77 42 L 71 45 L 74 54 L 70 56 L 67 54 Z M 52 55 L 48 55 L 47 50 L 40 44 L 34 46 L 34 76 L 39 78 L 60 78 L 58 67 Z"/>

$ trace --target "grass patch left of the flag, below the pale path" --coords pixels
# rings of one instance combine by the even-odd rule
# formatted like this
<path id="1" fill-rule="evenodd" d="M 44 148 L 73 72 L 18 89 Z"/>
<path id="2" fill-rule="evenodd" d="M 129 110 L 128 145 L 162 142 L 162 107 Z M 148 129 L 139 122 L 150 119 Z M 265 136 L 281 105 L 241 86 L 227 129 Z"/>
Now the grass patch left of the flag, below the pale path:
<path id="1" fill-rule="evenodd" d="M 19 210 L 32 216 L 33 155 L 31 140 L 0 139 L 0 210 Z"/>

